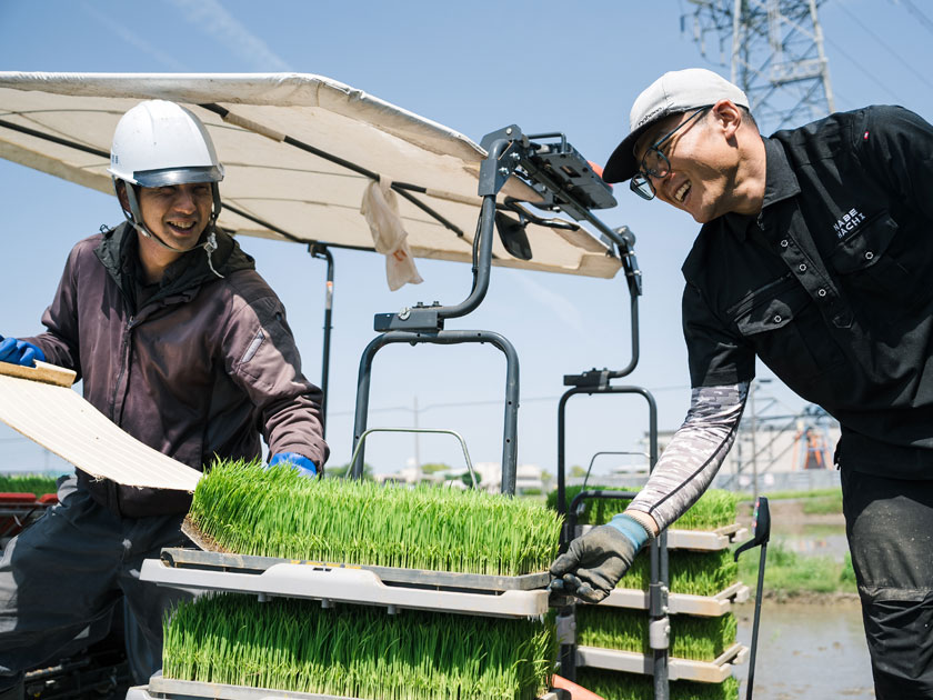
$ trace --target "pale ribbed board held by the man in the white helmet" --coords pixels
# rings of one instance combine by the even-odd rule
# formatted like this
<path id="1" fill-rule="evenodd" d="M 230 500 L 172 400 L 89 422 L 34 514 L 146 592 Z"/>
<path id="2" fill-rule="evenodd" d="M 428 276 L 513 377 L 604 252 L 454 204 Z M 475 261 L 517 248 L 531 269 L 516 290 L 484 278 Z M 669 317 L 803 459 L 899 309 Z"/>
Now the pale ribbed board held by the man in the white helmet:
<path id="1" fill-rule="evenodd" d="M 70 379 L 69 379 L 70 372 Z M 0 420 L 99 479 L 193 491 L 201 472 L 122 431 L 70 386 L 74 372 L 0 362 Z"/>

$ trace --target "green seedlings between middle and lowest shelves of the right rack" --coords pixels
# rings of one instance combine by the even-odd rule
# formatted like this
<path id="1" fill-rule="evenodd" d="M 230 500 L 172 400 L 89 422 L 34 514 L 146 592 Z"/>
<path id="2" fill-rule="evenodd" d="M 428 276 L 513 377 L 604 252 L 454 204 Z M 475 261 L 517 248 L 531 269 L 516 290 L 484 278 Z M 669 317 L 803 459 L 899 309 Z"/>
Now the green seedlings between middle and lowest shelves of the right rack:
<path id="1" fill-rule="evenodd" d="M 672 657 L 713 661 L 735 643 L 738 623 L 731 612 L 718 618 L 675 614 L 670 619 Z M 651 653 L 643 610 L 578 606 L 576 639 L 585 647 Z"/>

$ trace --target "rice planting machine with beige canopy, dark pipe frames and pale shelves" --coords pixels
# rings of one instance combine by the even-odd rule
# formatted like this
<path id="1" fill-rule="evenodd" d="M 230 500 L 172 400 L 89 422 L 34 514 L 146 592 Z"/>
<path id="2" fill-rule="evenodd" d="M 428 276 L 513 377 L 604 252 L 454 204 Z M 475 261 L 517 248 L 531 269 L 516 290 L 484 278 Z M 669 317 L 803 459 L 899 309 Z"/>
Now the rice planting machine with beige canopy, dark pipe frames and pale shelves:
<path id="1" fill-rule="evenodd" d="M 449 320 L 465 317 L 482 303 L 492 266 L 601 278 L 612 278 L 622 270 L 628 286 L 632 333 L 628 366 L 622 370 L 592 369 L 564 378 L 570 389 L 559 407 L 556 501 L 566 516 L 563 541 L 578 532 L 575 519 L 584 499 L 625 496 L 583 491 L 568 507 L 568 399 L 595 393 L 644 399 L 653 467 L 658 457 L 654 399 L 644 389 L 611 383 L 631 373 L 638 363 L 638 298 L 642 280 L 634 237 L 625 227 L 613 229 L 593 213 L 615 206 L 611 188 L 562 133 L 526 134 L 512 124 L 475 144 L 435 122 L 319 76 L 7 72 L 0 73 L 0 100 L 6 110 L 0 119 L 2 153 L 26 166 L 112 193 L 106 170 L 116 121 L 134 101 L 151 98 L 184 103 L 201 117 L 221 156 L 237 154 L 227 164 L 223 211 L 218 226 L 234 233 L 300 242 L 308 246 L 313 258 L 327 261 L 321 381 L 324 408 L 334 289 L 331 250 L 374 250 L 369 224 L 362 217 L 345 213 L 359 208 L 369 183 L 391 183 L 388 188 L 398 196 L 398 214 L 404 222 L 407 246 L 413 257 L 472 264 L 472 287 L 463 301 L 418 303 L 399 312 L 377 314 L 374 330 L 379 334 L 364 349 L 359 366 L 353 477 L 363 473 L 367 438 L 384 430 L 368 426 L 373 358 L 382 348 L 488 343 L 500 350 L 506 361 L 501 491 L 514 493 L 519 407 L 515 349 L 495 331 L 447 328 Z M 82 118 L 76 119 L 76 113 Z M 470 467 L 465 446 L 464 457 Z M 197 531 L 190 534 L 198 541 Z M 312 600 L 324 609 L 377 607 L 389 616 L 429 611 L 449 616 L 452 634 L 457 633 L 458 620 L 465 619 L 463 616 L 543 619 L 556 611 L 561 676 L 573 680 L 578 669 L 603 669 L 651 677 L 654 698 L 666 700 L 670 680 L 718 682 L 745 653 L 743 648 L 732 646 L 728 653 L 708 663 L 670 658 L 670 631 L 675 627 L 672 618 L 723 616 L 733 602 L 748 596 L 748 589 L 741 584 L 709 597 L 669 591 L 668 549 L 720 550 L 738 537 L 736 528 L 662 536 L 652 543 L 648 591 L 620 589 L 600 603 L 606 610 L 640 611 L 649 624 L 651 640 L 650 649 L 643 652 L 578 643 L 576 637 L 584 631 L 578 621 L 582 606 L 550 600 L 546 571 L 488 576 L 352 566 L 354 562 L 218 552 L 211 551 L 210 542 L 201 541 L 200 549 L 163 551 L 159 560 L 146 562 L 141 576 L 160 586 L 225 591 L 258 601 Z M 430 662 L 429 654 L 424 663 Z M 542 697 L 551 699 L 565 692 L 551 688 Z M 331 696 L 160 674 L 127 696 L 128 700 L 328 697 Z"/>

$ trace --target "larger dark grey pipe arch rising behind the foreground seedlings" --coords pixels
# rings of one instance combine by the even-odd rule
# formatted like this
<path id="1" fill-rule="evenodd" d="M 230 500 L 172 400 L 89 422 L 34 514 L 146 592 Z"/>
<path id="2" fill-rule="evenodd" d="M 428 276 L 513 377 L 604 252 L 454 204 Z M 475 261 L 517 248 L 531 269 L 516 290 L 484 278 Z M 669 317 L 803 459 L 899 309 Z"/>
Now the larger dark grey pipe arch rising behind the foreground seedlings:
<path id="1" fill-rule="evenodd" d="M 358 450 L 358 443 L 367 431 L 369 413 L 370 380 L 372 361 L 375 353 L 385 346 L 407 342 L 410 344 L 432 343 L 440 346 L 461 343 L 490 343 L 505 356 L 505 411 L 502 440 L 502 493 L 514 494 L 518 469 L 518 424 L 519 424 L 519 356 L 515 348 L 504 337 L 493 331 L 445 330 L 435 333 L 410 331 L 389 331 L 374 338 L 363 350 L 360 359 L 360 372 L 357 382 L 357 417 L 353 428 L 353 450 L 357 459 L 351 464 L 351 474 L 360 479 L 363 474 L 364 447 Z"/>

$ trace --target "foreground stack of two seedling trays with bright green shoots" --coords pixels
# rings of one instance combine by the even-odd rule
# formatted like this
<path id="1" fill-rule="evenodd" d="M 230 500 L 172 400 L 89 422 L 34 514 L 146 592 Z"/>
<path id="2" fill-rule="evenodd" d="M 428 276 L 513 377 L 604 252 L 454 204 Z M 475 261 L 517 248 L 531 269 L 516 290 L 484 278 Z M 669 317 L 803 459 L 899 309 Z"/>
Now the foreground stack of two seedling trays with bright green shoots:
<path id="1" fill-rule="evenodd" d="M 214 592 L 167 622 L 138 698 L 546 694 L 560 521 L 539 504 L 219 464 L 187 529 L 213 551 L 164 550 L 142 578 Z"/>

